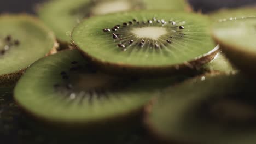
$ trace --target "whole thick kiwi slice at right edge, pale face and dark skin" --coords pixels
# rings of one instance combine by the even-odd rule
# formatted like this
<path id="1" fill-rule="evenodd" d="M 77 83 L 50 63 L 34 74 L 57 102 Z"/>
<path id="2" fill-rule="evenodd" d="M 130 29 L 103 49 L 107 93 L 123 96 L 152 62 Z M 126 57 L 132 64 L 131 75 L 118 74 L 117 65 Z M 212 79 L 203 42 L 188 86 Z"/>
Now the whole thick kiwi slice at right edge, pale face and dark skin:
<path id="1" fill-rule="evenodd" d="M 217 22 L 212 27 L 212 36 L 237 69 L 248 74 L 255 74 L 256 18 Z"/>

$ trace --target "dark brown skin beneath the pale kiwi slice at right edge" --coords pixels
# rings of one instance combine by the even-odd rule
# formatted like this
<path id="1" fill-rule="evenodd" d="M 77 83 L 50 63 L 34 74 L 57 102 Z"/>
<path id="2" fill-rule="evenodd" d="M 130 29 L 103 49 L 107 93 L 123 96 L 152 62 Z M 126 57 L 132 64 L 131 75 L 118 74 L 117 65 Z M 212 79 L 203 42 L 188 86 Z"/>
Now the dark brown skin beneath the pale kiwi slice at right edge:
<path id="1" fill-rule="evenodd" d="M 256 79 L 256 67 L 254 66 L 254 62 L 256 62 L 255 54 L 248 51 L 243 51 L 236 46 L 224 44 L 213 34 L 212 38 L 217 44 L 220 45 L 220 49 L 222 49 L 226 57 L 232 64 L 234 64 L 236 68 L 240 69 L 242 73 L 247 74 L 247 76 Z"/>

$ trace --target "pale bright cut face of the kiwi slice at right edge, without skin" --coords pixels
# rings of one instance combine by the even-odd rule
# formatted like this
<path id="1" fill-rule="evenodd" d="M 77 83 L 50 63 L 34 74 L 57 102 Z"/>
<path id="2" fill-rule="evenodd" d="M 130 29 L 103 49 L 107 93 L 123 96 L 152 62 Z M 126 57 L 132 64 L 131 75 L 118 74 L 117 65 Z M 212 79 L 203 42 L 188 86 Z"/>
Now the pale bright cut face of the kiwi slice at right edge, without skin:
<path id="1" fill-rule="evenodd" d="M 212 28 L 214 39 L 234 50 L 256 55 L 256 18 L 235 19 L 218 22 Z"/>

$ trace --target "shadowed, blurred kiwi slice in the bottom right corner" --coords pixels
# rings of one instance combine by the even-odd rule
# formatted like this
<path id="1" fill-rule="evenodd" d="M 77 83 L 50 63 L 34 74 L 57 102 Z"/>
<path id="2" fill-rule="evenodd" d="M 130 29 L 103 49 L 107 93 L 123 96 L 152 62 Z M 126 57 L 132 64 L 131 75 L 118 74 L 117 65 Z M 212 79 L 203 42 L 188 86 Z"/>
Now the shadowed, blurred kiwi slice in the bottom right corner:
<path id="1" fill-rule="evenodd" d="M 255 143 L 255 88 L 241 74 L 196 77 L 167 88 L 146 123 L 166 143 Z"/>

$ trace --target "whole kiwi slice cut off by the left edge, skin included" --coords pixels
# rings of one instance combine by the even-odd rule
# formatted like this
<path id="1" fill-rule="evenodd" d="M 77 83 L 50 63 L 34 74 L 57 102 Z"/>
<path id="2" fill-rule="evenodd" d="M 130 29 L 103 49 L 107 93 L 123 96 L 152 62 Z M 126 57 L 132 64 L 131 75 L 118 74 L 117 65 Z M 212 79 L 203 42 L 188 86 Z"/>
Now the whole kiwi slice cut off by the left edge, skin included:
<path id="1" fill-rule="evenodd" d="M 0 85 L 12 85 L 34 61 L 55 52 L 55 47 L 53 33 L 36 18 L 1 15 Z"/>

